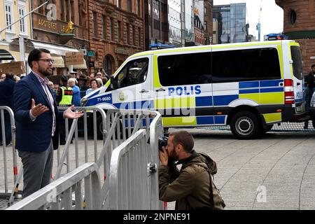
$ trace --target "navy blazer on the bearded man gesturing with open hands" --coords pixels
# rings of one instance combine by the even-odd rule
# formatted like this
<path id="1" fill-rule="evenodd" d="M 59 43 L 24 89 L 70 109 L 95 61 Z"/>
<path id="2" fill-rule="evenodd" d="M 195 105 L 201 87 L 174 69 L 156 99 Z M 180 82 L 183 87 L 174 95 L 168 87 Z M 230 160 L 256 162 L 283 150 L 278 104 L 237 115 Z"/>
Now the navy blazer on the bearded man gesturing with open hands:
<path id="1" fill-rule="evenodd" d="M 50 88 L 48 87 L 48 90 Z M 51 90 L 50 90 L 51 92 Z M 52 94 L 52 92 L 51 92 Z M 53 94 L 52 94 L 53 95 Z M 31 99 L 35 104 L 43 104 L 49 111 L 38 116 L 32 121 L 29 116 L 31 110 Z M 62 118 L 62 112 L 57 109 L 57 103 L 54 103 L 56 130 L 54 137 L 52 132 L 52 109 L 48 97 L 46 96 L 41 83 L 34 75 L 29 73 L 21 79 L 14 88 L 14 106 L 15 106 L 15 125 L 16 125 L 16 146 L 19 151 L 43 152 L 47 150 L 50 141 L 54 149 L 59 144 L 59 119 Z"/>

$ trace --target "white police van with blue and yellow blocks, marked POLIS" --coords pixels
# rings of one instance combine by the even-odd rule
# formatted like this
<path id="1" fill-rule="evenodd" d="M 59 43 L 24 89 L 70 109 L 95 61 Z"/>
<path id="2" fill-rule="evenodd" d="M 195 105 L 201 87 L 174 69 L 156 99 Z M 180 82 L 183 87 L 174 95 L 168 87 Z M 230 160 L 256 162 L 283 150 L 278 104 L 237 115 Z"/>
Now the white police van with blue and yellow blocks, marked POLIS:
<path id="1" fill-rule="evenodd" d="M 163 127 L 230 125 L 238 139 L 252 139 L 304 120 L 303 89 L 295 41 L 229 43 L 132 55 L 81 103 L 156 110 Z"/>

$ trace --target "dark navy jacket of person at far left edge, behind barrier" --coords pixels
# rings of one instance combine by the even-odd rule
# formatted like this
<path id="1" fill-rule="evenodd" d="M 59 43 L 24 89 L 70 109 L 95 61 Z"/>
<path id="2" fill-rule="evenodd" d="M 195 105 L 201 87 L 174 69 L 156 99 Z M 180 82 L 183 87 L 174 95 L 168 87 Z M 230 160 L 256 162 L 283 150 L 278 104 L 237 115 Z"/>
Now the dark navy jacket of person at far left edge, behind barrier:
<path id="1" fill-rule="evenodd" d="M 6 79 L 0 82 L 0 106 L 8 106 L 13 109 L 13 89 L 15 82 L 11 79 Z"/>

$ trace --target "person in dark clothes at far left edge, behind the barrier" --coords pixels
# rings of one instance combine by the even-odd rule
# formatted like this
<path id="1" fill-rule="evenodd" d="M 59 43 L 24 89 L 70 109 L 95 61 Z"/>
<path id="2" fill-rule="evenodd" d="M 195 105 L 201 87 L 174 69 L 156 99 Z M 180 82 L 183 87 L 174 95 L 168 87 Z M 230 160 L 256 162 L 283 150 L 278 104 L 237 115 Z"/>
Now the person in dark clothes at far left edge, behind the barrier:
<path id="1" fill-rule="evenodd" d="M 13 81 L 13 73 L 6 73 L 6 79 L 0 82 L 0 106 L 8 106 L 13 109 L 13 89 L 15 82 Z M 5 128 L 5 138 L 6 146 L 10 146 L 10 141 L 12 139 L 11 128 L 10 128 L 10 115 L 7 111 L 4 111 L 4 128 Z M 0 118 L 0 142 L 2 142 L 2 120 Z"/>

